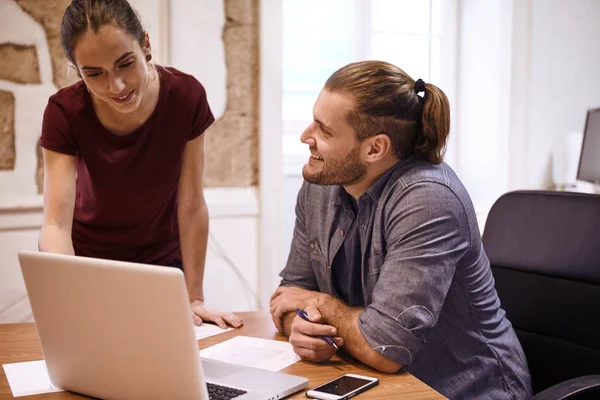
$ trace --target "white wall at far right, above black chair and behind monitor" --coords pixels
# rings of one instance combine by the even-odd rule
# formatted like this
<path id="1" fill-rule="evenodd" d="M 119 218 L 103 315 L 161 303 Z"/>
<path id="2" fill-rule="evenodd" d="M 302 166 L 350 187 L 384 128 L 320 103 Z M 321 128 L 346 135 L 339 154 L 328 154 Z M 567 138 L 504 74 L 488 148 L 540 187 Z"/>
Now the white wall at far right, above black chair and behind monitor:
<path id="1" fill-rule="evenodd" d="M 527 163 L 523 184 L 551 183 L 553 148 L 600 107 L 600 2 L 531 1 Z"/>

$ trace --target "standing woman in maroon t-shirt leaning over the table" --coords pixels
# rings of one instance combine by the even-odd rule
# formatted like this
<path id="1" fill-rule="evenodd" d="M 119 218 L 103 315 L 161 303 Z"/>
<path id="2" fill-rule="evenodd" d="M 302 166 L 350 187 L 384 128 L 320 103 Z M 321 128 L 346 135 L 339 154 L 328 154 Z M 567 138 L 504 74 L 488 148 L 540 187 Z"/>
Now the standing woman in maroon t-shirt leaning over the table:
<path id="1" fill-rule="evenodd" d="M 151 64 L 126 0 L 73 0 L 60 39 L 81 80 L 44 113 L 40 251 L 181 268 L 197 325 L 241 326 L 204 306 L 202 133 L 214 117 L 203 86 Z"/>

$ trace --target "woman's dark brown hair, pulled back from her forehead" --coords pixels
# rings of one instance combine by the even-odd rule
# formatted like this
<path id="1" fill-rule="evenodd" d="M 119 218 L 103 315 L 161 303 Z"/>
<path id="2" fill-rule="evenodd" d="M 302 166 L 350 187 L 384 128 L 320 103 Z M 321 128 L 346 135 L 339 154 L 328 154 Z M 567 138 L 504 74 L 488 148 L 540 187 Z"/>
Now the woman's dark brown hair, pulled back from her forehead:
<path id="1" fill-rule="evenodd" d="M 60 25 L 60 42 L 69 61 L 75 64 L 73 50 L 82 34 L 98 32 L 101 26 L 109 24 L 132 35 L 144 48 L 144 28 L 127 0 L 73 0 Z"/>

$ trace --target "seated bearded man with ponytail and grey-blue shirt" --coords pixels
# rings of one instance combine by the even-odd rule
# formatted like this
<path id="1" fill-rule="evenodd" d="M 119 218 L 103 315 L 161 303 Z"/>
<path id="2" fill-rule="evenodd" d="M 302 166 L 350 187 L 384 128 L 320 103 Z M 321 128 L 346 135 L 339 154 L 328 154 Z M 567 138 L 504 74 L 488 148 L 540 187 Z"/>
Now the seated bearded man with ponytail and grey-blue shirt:
<path id="1" fill-rule="evenodd" d="M 444 93 L 365 61 L 336 71 L 313 113 L 292 248 L 271 298 L 295 352 L 328 360 L 336 349 L 319 335 L 331 335 L 378 371 L 404 368 L 452 399 L 530 397 L 473 205 L 443 163 Z"/>

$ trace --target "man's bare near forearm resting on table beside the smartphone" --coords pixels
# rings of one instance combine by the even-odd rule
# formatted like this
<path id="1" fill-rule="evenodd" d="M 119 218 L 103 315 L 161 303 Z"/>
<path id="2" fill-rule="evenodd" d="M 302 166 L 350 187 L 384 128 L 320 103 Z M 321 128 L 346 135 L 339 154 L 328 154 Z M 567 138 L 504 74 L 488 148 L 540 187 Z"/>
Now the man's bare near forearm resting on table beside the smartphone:
<path id="1" fill-rule="evenodd" d="M 349 307 L 329 295 L 319 297 L 318 308 L 325 323 L 337 329 L 338 336 L 344 340 L 344 349 L 354 358 L 381 372 L 394 373 L 402 368 L 374 350 L 362 335 L 358 317 L 364 308 Z"/>

